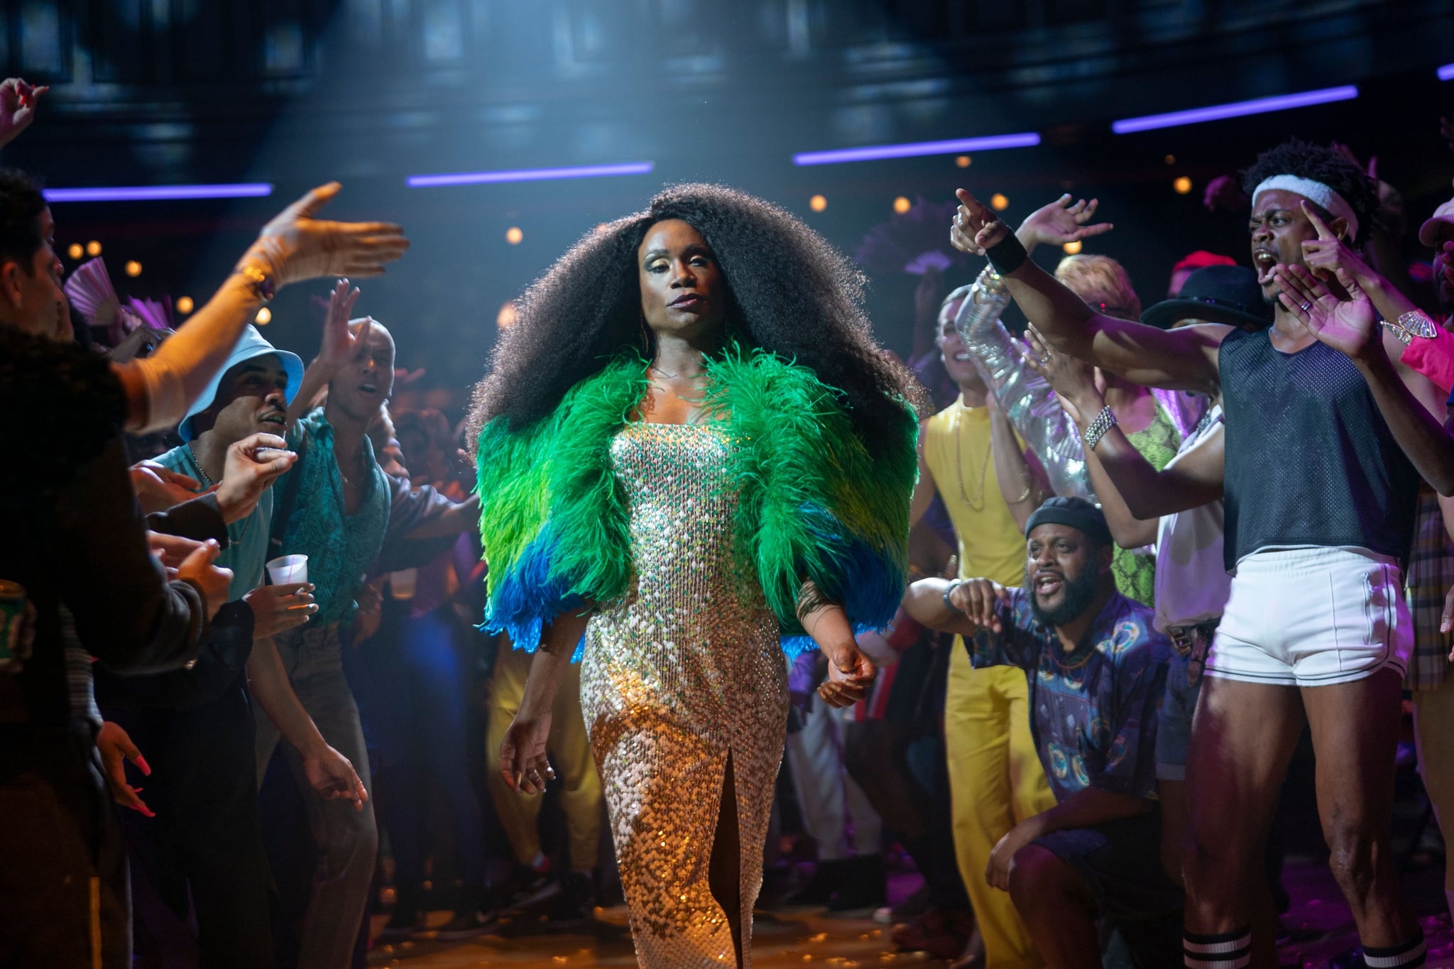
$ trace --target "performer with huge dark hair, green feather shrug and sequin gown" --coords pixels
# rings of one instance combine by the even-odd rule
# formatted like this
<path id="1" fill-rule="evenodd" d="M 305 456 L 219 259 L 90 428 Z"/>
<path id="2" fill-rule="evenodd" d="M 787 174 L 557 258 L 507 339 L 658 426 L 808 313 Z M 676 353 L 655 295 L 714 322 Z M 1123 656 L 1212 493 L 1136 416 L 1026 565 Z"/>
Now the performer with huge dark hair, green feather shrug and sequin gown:
<path id="1" fill-rule="evenodd" d="M 532 286 L 475 392 L 484 628 L 535 652 L 502 773 L 522 793 L 553 777 L 550 710 L 585 639 L 648 969 L 752 965 L 784 652 L 822 649 L 820 696 L 851 703 L 874 676 L 853 631 L 903 594 L 913 384 L 859 295 L 787 212 L 679 186 Z"/>

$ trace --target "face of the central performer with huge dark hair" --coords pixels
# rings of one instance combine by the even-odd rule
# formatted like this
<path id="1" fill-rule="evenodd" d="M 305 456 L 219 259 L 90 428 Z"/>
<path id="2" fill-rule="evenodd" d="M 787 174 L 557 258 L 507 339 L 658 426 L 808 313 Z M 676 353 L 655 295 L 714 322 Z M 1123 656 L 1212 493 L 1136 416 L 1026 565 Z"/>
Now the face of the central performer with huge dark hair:
<path id="1" fill-rule="evenodd" d="M 721 328 L 727 277 L 701 232 L 682 219 L 647 230 L 637 250 L 641 315 L 657 336 L 692 338 Z"/>

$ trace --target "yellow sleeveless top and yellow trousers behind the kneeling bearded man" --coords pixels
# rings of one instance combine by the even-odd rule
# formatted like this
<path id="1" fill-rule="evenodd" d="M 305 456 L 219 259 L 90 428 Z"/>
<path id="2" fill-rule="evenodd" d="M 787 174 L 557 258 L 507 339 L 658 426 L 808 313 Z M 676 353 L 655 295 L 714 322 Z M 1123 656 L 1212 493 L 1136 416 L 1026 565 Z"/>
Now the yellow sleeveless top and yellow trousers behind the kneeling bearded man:
<path id="1" fill-rule="evenodd" d="M 925 462 L 960 545 L 960 578 L 1025 581 L 1025 536 L 995 479 L 990 417 L 955 401 L 925 423 Z M 1048 811 L 1056 796 L 1029 732 L 1029 687 L 1015 667 L 976 670 L 954 638 L 944 697 L 944 742 L 954 812 L 954 853 L 984 937 L 989 969 L 1043 966 L 1008 892 L 984 867 L 1015 824 Z"/>

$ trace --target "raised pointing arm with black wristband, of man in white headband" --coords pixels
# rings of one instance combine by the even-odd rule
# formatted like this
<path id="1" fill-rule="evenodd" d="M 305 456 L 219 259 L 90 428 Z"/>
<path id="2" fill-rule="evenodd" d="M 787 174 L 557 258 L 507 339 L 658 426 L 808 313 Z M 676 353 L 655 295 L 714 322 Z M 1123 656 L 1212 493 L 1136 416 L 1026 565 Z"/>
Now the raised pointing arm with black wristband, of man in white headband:
<path id="1" fill-rule="evenodd" d="M 1032 263 L 990 209 L 964 189 L 957 195 L 960 211 L 949 241 L 961 251 L 989 256 L 1009 295 L 1051 346 L 1136 384 L 1216 394 L 1217 349 L 1232 327 L 1202 324 L 1168 331 L 1095 312 Z"/>

